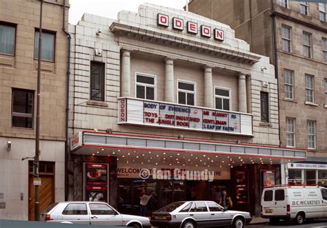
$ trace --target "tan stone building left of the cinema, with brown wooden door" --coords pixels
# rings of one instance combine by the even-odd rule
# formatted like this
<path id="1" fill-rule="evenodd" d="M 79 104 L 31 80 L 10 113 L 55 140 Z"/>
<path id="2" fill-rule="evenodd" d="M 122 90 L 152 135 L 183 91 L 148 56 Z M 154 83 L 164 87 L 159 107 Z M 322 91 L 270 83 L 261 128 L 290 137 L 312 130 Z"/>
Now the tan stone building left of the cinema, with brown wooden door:
<path id="1" fill-rule="evenodd" d="M 41 211 L 64 200 L 68 39 L 62 31 L 63 2 L 43 0 Z M 0 1 L 1 219 L 34 220 L 32 160 L 35 155 L 40 6 L 40 1 Z M 68 7 L 65 10 L 64 26 L 68 29 Z"/>

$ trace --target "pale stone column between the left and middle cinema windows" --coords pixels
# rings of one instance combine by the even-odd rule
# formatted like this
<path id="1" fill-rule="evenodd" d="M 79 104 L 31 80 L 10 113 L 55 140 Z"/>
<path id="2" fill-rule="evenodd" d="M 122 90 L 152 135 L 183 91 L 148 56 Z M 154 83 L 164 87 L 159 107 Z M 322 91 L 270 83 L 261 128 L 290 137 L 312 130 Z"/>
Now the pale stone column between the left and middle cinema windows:
<path id="1" fill-rule="evenodd" d="M 165 76 L 165 101 L 174 103 L 174 60 L 166 58 L 166 76 Z"/>

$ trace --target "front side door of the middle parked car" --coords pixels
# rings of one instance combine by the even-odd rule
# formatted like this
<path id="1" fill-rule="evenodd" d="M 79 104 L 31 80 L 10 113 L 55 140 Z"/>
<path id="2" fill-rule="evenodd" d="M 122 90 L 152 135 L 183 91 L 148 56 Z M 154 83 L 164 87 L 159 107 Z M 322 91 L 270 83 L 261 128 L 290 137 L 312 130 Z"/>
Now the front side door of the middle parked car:
<path id="1" fill-rule="evenodd" d="M 232 216 L 215 202 L 207 202 L 210 211 L 211 227 L 227 227 L 232 223 Z"/>

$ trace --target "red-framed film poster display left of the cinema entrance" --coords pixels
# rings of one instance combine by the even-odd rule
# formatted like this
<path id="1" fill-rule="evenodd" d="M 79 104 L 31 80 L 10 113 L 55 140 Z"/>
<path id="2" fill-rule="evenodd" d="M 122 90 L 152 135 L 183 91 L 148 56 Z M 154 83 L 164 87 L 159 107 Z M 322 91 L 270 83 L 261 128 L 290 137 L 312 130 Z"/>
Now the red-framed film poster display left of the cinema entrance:
<path id="1" fill-rule="evenodd" d="M 108 201 L 108 164 L 84 164 L 84 200 Z"/>

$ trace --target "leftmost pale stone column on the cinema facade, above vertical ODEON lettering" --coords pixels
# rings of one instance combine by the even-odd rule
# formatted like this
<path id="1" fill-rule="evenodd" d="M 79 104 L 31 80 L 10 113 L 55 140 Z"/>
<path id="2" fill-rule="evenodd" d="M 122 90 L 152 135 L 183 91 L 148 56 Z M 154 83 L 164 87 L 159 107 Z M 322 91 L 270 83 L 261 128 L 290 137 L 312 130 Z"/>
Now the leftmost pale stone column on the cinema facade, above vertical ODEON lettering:
<path id="1" fill-rule="evenodd" d="M 130 96 L 130 50 L 121 51 L 121 96 Z"/>

